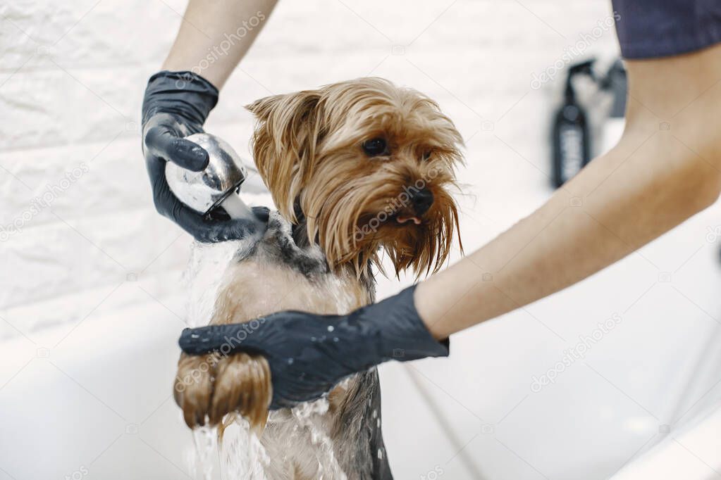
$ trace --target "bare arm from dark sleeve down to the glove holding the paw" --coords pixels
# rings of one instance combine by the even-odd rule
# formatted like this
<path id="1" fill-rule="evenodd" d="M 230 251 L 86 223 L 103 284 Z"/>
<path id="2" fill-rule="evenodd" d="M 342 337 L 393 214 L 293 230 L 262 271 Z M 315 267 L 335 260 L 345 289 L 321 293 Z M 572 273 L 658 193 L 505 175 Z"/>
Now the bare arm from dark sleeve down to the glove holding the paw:
<path id="1" fill-rule="evenodd" d="M 721 46 L 629 61 L 627 70 L 619 144 L 529 217 L 417 287 L 417 310 L 435 338 L 575 284 L 717 199 Z"/>

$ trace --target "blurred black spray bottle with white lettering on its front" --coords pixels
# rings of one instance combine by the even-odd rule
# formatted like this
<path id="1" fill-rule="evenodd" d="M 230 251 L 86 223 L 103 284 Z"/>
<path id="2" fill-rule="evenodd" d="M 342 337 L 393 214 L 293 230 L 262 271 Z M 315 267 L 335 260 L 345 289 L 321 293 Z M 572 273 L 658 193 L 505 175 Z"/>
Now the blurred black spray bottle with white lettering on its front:
<path id="1" fill-rule="evenodd" d="M 585 110 L 576 101 L 573 78 L 578 74 L 593 77 L 594 60 L 572 65 L 566 78 L 565 99 L 553 124 L 553 181 L 562 186 L 590 161 L 590 137 Z"/>

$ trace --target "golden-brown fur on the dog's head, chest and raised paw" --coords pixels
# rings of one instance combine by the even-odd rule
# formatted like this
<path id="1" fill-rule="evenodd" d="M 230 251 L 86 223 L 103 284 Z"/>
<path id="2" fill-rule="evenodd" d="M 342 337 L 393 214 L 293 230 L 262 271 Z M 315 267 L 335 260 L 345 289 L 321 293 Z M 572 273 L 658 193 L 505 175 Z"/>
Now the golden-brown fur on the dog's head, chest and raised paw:
<path id="1" fill-rule="evenodd" d="M 420 276 L 441 267 L 458 225 L 449 189 L 462 140 L 433 100 L 380 78 L 359 78 L 270 96 L 248 109 L 257 117 L 255 163 L 275 205 L 299 226 L 293 232 L 298 247 L 319 246 L 328 273 L 288 268 L 268 246 L 229 266 L 211 324 L 248 322 L 284 309 L 350 312 L 372 301 L 369 269 L 382 270 L 381 251 L 395 273 L 412 268 Z M 373 138 L 384 139 L 387 152 L 369 156 L 363 142 Z M 433 194 L 420 216 L 412 202 L 402 201 L 418 187 Z M 218 425 L 239 412 L 259 432 L 273 395 L 267 362 L 247 353 L 183 354 L 175 392 L 190 427 Z M 330 395 L 329 415 L 345 394 L 338 387 Z"/>

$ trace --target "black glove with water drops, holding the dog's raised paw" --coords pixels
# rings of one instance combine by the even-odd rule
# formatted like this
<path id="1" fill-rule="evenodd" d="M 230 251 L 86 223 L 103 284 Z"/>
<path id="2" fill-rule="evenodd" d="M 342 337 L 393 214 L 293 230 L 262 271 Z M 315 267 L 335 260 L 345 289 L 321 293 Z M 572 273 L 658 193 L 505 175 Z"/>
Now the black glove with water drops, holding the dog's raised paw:
<path id="1" fill-rule="evenodd" d="M 345 377 L 389 360 L 448 356 L 413 303 L 415 286 L 348 315 L 278 312 L 252 322 L 186 328 L 180 348 L 190 355 L 261 353 L 270 364 L 271 409 L 322 397 Z"/>

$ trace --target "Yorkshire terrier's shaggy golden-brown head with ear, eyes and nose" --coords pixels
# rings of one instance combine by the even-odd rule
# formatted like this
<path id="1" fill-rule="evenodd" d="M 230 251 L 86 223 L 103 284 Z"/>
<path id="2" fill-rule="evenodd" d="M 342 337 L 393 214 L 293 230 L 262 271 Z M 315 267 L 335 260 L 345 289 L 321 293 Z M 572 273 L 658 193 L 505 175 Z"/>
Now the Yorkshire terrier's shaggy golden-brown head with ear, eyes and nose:
<path id="1" fill-rule="evenodd" d="M 458 212 L 448 192 L 461 135 L 438 105 L 381 78 L 249 105 L 255 163 L 280 213 L 307 219 L 329 263 L 364 271 L 384 248 L 396 273 L 436 271 Z"/>

